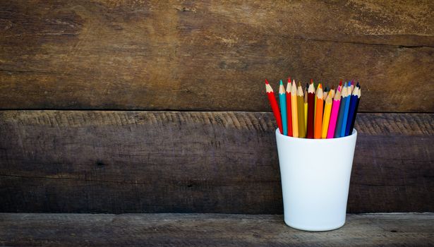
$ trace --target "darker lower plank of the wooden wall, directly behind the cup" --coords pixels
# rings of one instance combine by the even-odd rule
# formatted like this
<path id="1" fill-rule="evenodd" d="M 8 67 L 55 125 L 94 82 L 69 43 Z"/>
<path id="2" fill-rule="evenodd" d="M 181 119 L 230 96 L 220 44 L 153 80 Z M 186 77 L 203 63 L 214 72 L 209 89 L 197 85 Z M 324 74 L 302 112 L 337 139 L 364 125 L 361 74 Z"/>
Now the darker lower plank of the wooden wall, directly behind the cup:
<path id="1" fill-rule="evenodd" d="M 0 212 L 282 213 L 248 112 L 0 112 Z M 349 212 L 434 211 L 434 114 L 359 114 Z"/>

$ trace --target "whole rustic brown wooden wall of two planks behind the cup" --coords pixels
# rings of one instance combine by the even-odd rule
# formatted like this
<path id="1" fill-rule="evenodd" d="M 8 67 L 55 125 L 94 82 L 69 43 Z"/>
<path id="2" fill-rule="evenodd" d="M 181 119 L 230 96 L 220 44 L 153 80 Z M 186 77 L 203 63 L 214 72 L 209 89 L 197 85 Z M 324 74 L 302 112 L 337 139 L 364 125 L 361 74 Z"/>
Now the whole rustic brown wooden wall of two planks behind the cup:
<path id="1" fill-rule="evenodd" d="M 432 13 L 1 1 L 0 212 L 282 213 L 263 80 L 287 76 L 362 83 L 349 212 L 434 211 Z"/>

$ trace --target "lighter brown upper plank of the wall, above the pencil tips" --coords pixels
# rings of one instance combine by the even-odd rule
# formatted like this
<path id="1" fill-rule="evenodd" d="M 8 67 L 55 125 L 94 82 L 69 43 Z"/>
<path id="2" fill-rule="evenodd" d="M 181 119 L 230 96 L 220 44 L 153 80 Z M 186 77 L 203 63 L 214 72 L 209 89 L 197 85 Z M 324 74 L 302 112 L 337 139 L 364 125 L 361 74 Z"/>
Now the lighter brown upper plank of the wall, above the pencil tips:
<path id="1" fill-rule="evenodd" d="M 1 1 L 0 109 L 267 112 L 264 78 L 293 76 L 361 80 L 361 112 L 434 112 L 433 12 L 433 1 Z"/>

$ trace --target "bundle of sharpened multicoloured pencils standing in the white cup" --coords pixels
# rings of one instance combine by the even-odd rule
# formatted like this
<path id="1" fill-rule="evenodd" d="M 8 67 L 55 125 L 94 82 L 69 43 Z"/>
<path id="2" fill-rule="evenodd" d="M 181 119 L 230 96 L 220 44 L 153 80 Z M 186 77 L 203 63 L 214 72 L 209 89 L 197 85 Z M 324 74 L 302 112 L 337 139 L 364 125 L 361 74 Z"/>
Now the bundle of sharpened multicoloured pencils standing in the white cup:
<path id="1" fill-rule="evenodd" d="M 356 121 L 360 85 L 348 81 L 342 86 L 342 80 L 335 92 L 334 87 L 323 89 L 313 80 L 303 90 L 301 83 L 288 78 L 285 90 L 282 80 L 279 85 L 279 104 L 270 83 L 265 80 L 268 100 L 279 131 L 283 135 L 298 138 L 339 138 L 353 132 Z M 280 109 L 279 109 L 280 105 Z"/>

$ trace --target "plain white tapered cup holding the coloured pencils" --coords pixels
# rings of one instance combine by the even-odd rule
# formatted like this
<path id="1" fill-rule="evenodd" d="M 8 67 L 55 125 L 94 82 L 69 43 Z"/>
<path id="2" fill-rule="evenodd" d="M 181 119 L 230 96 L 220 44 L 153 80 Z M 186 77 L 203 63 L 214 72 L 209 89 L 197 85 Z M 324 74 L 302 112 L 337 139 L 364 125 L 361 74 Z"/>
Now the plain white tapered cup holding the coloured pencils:
<path id="1" fill-rule="evenodd" d="M 284 221 L 305 231 L 345 224 L 357 131 L 342 138 L 306 139 L 276 130 Z"/>

